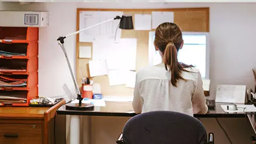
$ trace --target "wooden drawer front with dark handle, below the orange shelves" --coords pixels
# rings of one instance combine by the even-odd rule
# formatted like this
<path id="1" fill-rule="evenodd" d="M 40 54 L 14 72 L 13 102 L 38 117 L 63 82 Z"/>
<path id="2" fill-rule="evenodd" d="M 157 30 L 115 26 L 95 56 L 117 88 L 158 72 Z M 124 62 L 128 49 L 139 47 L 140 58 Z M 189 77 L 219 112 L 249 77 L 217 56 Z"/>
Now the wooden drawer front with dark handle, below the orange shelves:
<path id="1" fill-rule="evenodd" d="M 0 143 L 42 143 L 42 124 L 0 123 Z"/>

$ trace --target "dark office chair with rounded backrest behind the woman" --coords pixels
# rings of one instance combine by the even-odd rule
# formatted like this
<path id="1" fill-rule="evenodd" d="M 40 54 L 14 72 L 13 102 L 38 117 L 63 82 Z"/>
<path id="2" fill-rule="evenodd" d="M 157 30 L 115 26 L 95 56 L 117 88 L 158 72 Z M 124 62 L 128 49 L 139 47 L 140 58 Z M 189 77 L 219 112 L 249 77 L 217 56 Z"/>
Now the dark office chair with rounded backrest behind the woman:
<path id="1" fill-rule="evenodd" d="M 213 144 L 198 119 L 174 111 L 150 111 L 136 115 L 125 124 L 118 144 Z"/>

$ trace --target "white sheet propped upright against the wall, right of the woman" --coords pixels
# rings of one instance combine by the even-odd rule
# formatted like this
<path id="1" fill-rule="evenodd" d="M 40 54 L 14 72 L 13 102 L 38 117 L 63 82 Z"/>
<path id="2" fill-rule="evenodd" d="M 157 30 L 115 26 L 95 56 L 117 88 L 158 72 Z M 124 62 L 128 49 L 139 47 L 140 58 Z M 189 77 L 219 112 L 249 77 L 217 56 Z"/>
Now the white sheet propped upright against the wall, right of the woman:
<path id="1" fill-rule="evenodd" d="M 246 85 L 218 85 L 216 102 L 244 103 Z"/>

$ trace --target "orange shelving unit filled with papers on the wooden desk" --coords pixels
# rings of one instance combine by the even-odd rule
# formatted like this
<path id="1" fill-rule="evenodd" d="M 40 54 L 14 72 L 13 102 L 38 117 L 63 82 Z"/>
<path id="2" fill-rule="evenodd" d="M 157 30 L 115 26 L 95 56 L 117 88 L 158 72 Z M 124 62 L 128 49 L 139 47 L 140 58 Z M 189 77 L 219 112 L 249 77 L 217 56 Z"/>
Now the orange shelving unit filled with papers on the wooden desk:
<path id="1" fill-rule="evenodd" d="M 0 106 L 29 106 L 37 95 L 38 28 L 0 27 L 0 96 L 9 98 Z"/>

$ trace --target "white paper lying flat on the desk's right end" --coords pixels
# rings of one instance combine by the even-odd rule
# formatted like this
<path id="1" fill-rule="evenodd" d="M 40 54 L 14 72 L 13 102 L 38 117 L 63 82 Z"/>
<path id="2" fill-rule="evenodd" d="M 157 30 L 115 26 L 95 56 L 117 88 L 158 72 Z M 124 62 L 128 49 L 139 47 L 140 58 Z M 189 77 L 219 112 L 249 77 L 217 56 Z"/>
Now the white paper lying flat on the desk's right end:
<path id="1" fill-rule="evenodd" d="M 249 113 L 249 112 L 256 112 L 256 107 L 254 105 L 236 105 L 237 110 L 228 110 L 228 105 L 221 105 L 221 108 L 226 113 Z"/>

